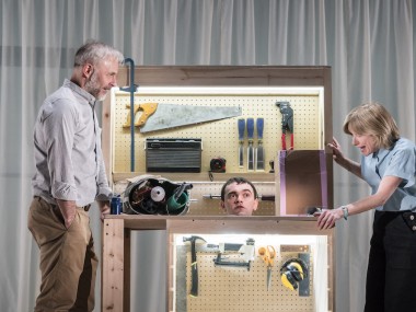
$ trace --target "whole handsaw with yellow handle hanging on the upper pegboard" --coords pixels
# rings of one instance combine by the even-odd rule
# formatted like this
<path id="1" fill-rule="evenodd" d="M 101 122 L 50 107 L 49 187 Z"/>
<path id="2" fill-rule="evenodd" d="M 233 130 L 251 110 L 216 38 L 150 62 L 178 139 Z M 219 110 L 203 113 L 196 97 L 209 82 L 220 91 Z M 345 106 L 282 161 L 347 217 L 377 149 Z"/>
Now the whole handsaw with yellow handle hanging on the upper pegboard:
<path id="1" fill-rule="evenodd" d="M 130 105 L 127 104 L 126 108 L 130 108 Z M 139 111 L 142 111 L 142 114 L 135 122 L 135 126 L 140 127 L 140 132 L 149 132 L 231 118 L 240 116 L 242 109 L 240 106 L 192 106 L 166 103 L 135 104 L 135 116 Z M 129 113 L 123 127 L 130 127 L 130 124 L 131 117 Z"/>

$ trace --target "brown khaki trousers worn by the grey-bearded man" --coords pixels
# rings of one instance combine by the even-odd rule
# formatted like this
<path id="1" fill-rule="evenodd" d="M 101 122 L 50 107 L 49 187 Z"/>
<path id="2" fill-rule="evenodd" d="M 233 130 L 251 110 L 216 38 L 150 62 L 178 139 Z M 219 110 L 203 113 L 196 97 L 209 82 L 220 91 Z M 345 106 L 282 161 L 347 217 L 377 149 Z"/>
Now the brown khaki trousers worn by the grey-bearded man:
<path id="1" fill-rule="evenodd" d="M 35 196 L 27 227 L 41 255 L 41 293 L 34 311 L 92 311 L 99 259 L 88 211 L 77 208 L 76 218 L 67 229 L 59 207 Z"/>

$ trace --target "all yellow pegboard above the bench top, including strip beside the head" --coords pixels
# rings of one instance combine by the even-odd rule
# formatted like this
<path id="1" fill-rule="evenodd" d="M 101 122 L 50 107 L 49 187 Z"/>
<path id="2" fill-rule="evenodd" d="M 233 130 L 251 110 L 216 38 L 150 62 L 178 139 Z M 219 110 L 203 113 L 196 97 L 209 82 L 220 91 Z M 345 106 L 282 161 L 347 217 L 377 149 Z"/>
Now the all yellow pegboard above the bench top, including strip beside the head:
<path id="1" fill-rule="evenodd" d="M 203 141 L 201 173 L 152 173 L 166 178 L 194 183 L 188 215 L 209 216 L 223 215 L 218 199 L 204 199 L 203 195 L 219 195 L 222 184 L 231 176 L 244 176 L 257 187 L 258 194 L 273 195 L 276 192 L 275 174 L 269 173 L 269 161 L 275 161 L 281 149 L 281 113 L 276 102 L 289 102 L 293 109 L 294 149 L 322 149 L 324 141 L 323 89 L 322 88 L 207 88 L 175 86 L 139 88 L 135 93 L 135 105 L 142 103 L 167 103 L 192 106 L 240 106 L 242 115 L 221 120 L 215 120 L 192 126 L 184 126 L 152 132 L 140 132 L 135 128 L 135 172 L 134 175 L 146 173 L 145 142 L 147 138 L 200 138 Z M 112 173 L 123 174 L 130 171 L 130 128 L 123 127 L 128 122 L 130 94 L 112 90 Z M 138 113 L 136 119 L 140 116 Z M 263 117 L 265 123 L 263 147 L 265 150 L 265 170 L 247 171 L 247 138 L 244 140 L 244 167 L 238 164 L 238 119 Z M 150 116 L 151 118 L 151 116 Z M 245 132 L 246 135 L 246 132 Z M 290 134 L 288 134 L 290 136 Z M 254 131 L 254 147 L 257 146 L 257 134 Z M 288 139 L 289 140 L 289 139 Z M 290 143 L 287 143 L 288 147 Z M 227 173 L 215 173 L 209 181 L 210 160 L 221 157 L 227 160 Z M 275 170 L 277 167 L 275 165 Z M 172 177 L 173 176 L 173 177 Z M 115 193 L 122 193 L 126 181 L 116 181 Z M 277 201 L 278 203 L 278 201 Z M 277 209 L 278 210 L 278 209 Z M 275 216 L 276 205 L 273 201 L 261 201 L 256 216 Z"/>

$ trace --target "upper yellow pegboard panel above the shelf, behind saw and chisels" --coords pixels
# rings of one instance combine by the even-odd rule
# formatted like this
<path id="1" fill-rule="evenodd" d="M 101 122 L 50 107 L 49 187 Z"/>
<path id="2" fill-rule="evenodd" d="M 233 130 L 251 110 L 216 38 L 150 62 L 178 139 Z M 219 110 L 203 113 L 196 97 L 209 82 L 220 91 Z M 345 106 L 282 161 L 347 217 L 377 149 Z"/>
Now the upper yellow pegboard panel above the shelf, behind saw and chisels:
<path id="1" fill-rule="evenodd" d="M 135 127 L 135 172 L 146 171 L 145 141 L 147 138 L 201 138 L 201 172 L 209 171 L 212 158 L 227 160 L 227 172 L 247 173 L 246 150 L 249 140 L 244 139 L 244 166 L 238 163 L 238 119 L 258 118 L 265 120 L 263 147 L 266 171 L 269 160 L 274 160 L 281 149 L 281 114 L 276 102 L 289 102 L 293 109 L 294 148 L 322 149 L 324 138 L 323 88 L 139 88 L 135 93 L 135 105 L 142 103 L 165 103 L 190 106 L 240 106 L 239 117 L 212 120 L 184 127 L 141 134 Z M 130 94 L 117 89 L 112 90 L 112 154 L 113 173 L 130 170 L 130 128 L 123 127 L 130 112 Z M 136 119 L 141 113 L 136 114 Z M 178 116 L 180 118 L 181 116 Z M 150 116 L 151 118 L 151 116 Z M 246 131 L 245 131 L 246 135 Z M 257 134 L 254 131 L 254 147 Z"/>

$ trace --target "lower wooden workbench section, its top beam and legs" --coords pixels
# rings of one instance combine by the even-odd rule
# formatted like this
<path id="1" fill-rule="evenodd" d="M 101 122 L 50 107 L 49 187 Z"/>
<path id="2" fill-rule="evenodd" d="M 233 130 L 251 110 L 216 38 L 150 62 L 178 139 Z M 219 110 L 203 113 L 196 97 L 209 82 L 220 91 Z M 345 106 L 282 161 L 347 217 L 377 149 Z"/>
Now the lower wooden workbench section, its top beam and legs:
<path id="1" fill-rule="evenodd" d="M 334 231 L 319 230 L 313 217 L 190 217 L 190 216 L 106 216 L 103 229 L 102 254 L 102 311 L 130 311 L 130 232 L 166 230 L 166 267 L 169 267 L 165 293 L 169 300 L 166 311 L 174 302 L 171 266 L 172 234 L 288 234 L 326 235 L 328 255 L 328 309 L 334 309 Z"/>

